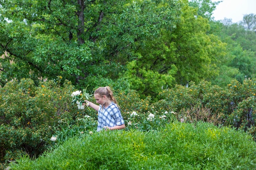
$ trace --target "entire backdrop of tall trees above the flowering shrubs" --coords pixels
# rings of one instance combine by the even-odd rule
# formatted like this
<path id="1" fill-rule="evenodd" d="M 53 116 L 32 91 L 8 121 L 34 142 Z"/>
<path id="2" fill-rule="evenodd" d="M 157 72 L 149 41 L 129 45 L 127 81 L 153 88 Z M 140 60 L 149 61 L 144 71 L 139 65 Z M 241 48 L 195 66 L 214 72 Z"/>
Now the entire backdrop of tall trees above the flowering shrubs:
<path id="1" fill-rule="evenodd" d="M 0 1 L 0 85 L 60 75 L 90 90 L 118 82 L 157 101 L 175 84 L 243 82 L 256 74 L 255 15 L 217 22 L 211 15 L 219 3 Z"/>

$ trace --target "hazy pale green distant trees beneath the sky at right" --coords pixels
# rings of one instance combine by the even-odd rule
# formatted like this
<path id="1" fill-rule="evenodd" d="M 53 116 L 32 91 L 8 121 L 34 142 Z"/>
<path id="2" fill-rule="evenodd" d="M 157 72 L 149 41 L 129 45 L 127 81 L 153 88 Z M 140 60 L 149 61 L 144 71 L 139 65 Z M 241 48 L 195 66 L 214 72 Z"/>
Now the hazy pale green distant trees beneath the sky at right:
<path id="1" fill-rule="evenodd" d="M 240 83 L 244 79 L 255 77 L 255 41 L 256 35 L 253 31 L 246 30 L 242 24 L 227 22 L 219 24 L 221 31 L 218 35 L 222 42 L 227 43 L 225 57 L 220 58 L 221 71 L 218 77 L 212 79 L 213 84 L 226 87 L 231 80 L 238 80 Z"/>

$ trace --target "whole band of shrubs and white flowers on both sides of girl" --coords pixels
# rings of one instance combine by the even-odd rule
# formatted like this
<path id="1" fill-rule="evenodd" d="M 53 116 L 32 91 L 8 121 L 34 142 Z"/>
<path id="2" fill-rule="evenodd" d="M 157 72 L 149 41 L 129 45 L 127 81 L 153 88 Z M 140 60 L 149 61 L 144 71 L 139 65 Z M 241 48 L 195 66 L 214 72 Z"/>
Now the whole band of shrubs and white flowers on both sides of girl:
<path id="1" fill-rule="evenodd" d="M 63 84 L 63 85 L 61 85 Z M 8 82 L 0 88 L 1 162 L 22 155 L 38 157 L 70 137 L 95 132 L 97 115 L 92 109 L 80 110 L 71 103 L 71 82 L 58 79 L 40 82 L 31 79 Z M 177 85 L 159 93 L 161 100 L 141 99 L 132 91 L 117 91 L 126 130 L 161 130 L 173 121 L 231 126 L 256 138 L 256 79 L 243 84 L 234 81 L 221 88 L 209 82 L 188 88 Z M 91 99 L 95 102 L 94 99 Z M 56 140 L 51 140 L 51 137 Z"/>

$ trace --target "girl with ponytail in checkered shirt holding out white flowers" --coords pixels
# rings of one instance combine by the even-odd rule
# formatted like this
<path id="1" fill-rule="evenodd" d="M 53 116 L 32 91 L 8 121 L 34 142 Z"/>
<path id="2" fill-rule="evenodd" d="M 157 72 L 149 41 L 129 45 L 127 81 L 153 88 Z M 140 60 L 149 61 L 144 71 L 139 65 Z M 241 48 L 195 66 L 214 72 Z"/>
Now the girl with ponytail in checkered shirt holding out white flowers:
<path id="1" fill-rule="evenodd" d="M 98 112 L 97 132 L 102 129 L 125 128 L 121 111 L 109 86 L 97 88 L 94 92 L 94 98 L 99 105 L 89 101 L 85 101 L 85 104 Z"/>

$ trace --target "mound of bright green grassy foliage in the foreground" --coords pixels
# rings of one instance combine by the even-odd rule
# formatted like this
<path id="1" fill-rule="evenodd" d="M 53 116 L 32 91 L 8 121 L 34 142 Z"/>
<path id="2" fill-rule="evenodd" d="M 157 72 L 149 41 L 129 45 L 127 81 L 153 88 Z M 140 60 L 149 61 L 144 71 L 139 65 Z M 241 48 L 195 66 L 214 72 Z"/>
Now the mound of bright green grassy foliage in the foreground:
<path id="1" fill-rule="evenodd" d="M 84 135 L 84 134 L 83 134 Z M 253 170 L 256 143 L 244 132 L 212 124 L 174 122 L 162 130 L 103 131 L 70 138 L 11 170 Z"/>

